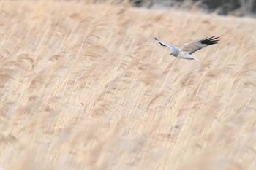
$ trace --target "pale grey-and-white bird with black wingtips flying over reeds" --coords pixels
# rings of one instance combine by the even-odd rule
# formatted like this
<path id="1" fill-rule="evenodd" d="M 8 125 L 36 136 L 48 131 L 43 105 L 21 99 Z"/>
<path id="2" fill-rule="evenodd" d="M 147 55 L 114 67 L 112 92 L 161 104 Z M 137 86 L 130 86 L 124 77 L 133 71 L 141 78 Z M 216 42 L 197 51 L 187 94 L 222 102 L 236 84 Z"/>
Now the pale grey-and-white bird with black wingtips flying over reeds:
<path id="1" fill-rule="evenodd" d="M 198 39 L 192 42 L 184 44 L 181 48 L 178 48 L 174 45 L 170 45 L 165 42 L 159 41 L 157 38 L 154 38 L 160 45 L 170 48 L 170 55 L 178 58 L 184 58 L 188 60 L 196 60 L 197 58 L 192 56 L 192 53 L 195 53 L 197 50 L 207 47 L 208 45 L 214 45 L 219 42 L 219 36 L 211 36 L 210 38 Z"/>

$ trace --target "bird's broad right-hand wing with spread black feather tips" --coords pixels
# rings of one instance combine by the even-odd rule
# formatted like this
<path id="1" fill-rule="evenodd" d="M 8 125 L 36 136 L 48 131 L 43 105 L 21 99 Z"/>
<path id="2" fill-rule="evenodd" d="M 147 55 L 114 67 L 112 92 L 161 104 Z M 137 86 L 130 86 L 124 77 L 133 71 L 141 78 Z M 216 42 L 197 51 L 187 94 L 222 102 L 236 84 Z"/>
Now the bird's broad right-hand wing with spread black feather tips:
<path id="1" fill-rule="evenodd" d="M 189 54 L 195 53 L 197 50 L 214 45 L 219 42 L 219 36 L 211 36 L 210 38 L 199 39 L 193 42 L 188 42 L 181 47 L 181 51 L 186 51 Z"/>

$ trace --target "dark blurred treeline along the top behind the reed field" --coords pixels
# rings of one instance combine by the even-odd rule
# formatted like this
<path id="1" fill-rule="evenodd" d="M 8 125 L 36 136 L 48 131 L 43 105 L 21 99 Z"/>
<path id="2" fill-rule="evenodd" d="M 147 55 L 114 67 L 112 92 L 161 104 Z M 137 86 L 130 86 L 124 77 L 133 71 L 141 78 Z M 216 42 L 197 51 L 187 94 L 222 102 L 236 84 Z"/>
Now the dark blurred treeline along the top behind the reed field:
<path id="1" fill-rule="evenodd" d="M 190 7 L 219 15 L 255 15 L 256 0 L 129 0 L 135 7 Z"/>

